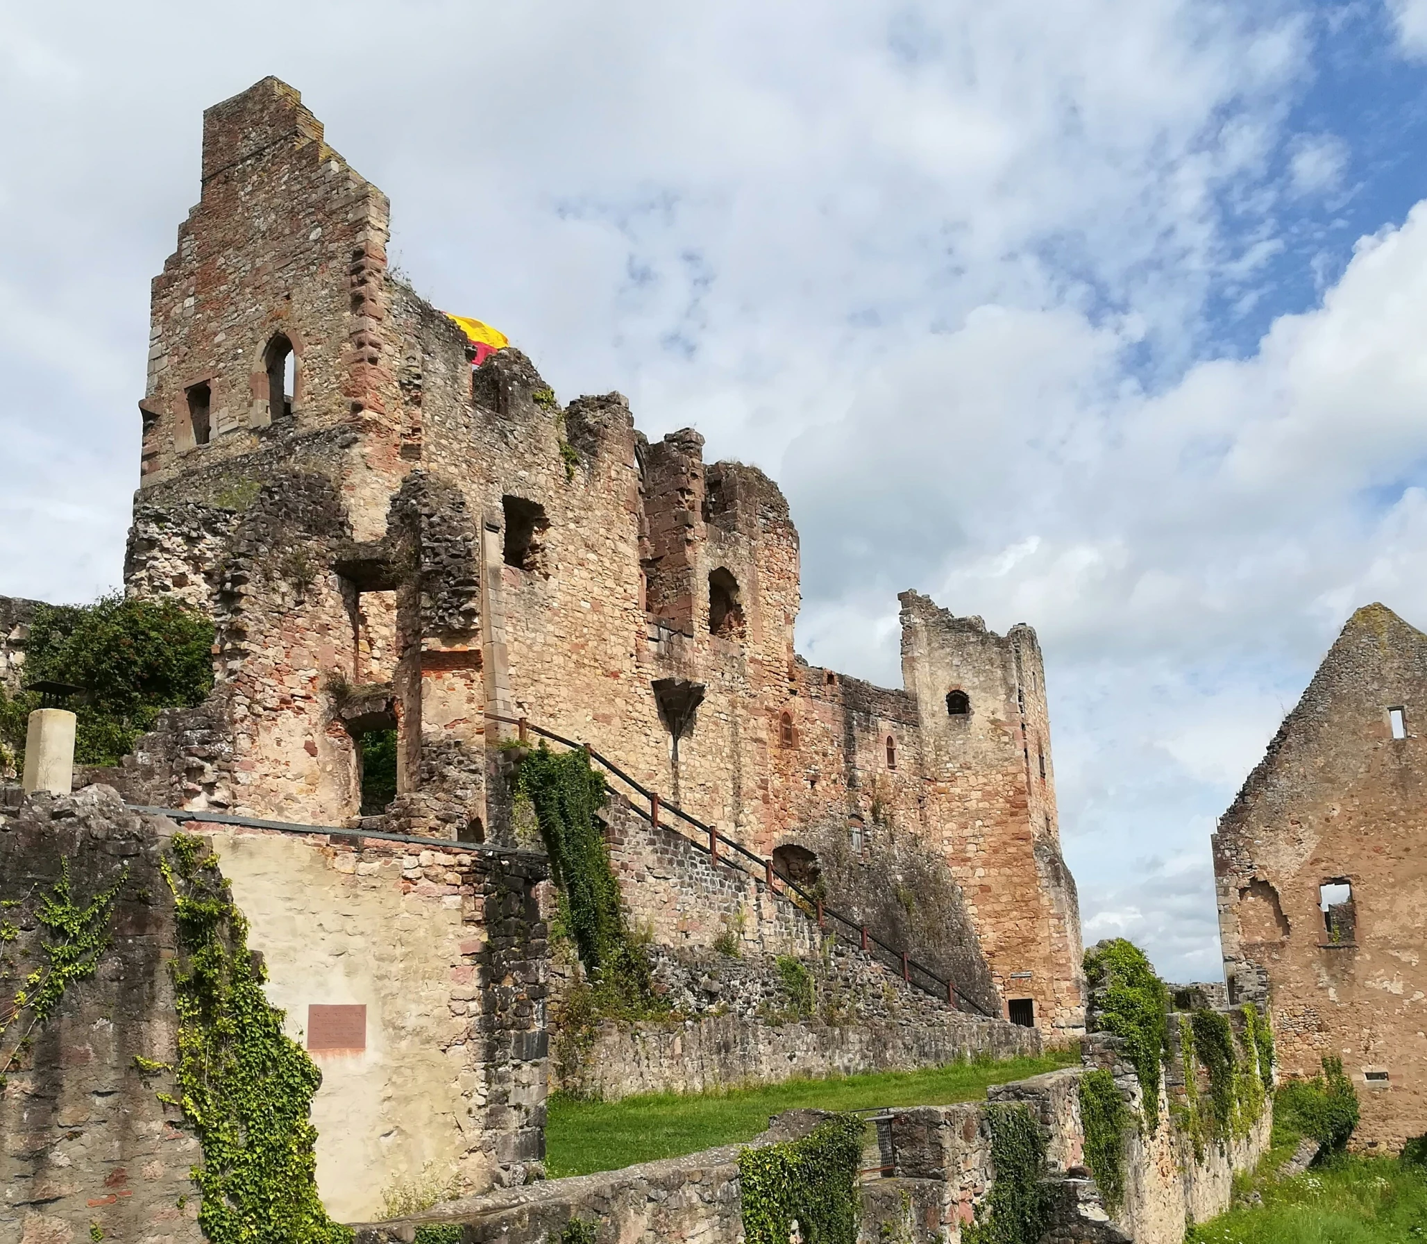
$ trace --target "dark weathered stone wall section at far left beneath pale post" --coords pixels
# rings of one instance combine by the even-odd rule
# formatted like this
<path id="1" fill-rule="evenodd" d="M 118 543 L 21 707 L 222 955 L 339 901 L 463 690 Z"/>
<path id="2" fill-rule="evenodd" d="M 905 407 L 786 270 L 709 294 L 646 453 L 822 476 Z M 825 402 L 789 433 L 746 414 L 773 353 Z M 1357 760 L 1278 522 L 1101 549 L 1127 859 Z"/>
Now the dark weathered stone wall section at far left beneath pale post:
<path id="1" fill-rule="evenodd" d="M 106 1238 L 197 1244 L 197 1141 L 134 1063 L 176 1056 L 173 894 L 158 872 L 173 823 L 126 812 L 104 787 L 19 796 L 17 786 L 0 789 L 0 902 L 16 904 L 0 923 L 29 936 L 34 896 L 53 890 L 66 862 L 78 903 L 128 872 L 97 973 L 66 990 L 0 1090 L 0 1238 L 60 1244 L 97 1224 Z M 19 987 L 7 962 L 17 946 L 0 942 L 4 1011 Z M 19 1036 L 0 1036 L 0 1051 Z"/>

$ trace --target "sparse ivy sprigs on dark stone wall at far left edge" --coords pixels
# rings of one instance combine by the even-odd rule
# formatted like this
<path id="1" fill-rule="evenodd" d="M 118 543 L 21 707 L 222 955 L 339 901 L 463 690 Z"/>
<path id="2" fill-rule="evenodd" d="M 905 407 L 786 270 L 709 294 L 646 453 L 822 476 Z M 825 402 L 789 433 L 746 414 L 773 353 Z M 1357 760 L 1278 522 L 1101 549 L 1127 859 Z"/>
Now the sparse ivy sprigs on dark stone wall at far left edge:
<path id="1" fill-rule="evenodd" d="M 70 886 L 70 862 L 60 860 L 60 876 L 47 893 L 40 894 L 33 923 L 20 917 L 0 922 L 0 982 L 19 980 L 9 1003 L 0 1003 L 0 1088 L 6 1073 L 17 1070 L 20 1057 L 30 1049 L 34 1030 L 54 1014 L 71 984 L 87 980 L 98 967 L 100 956 L 111 940 L 110 916 L 128 866 L 90 902 L 74 900 Z M 31 886 L 30 894 L 34 893 Z M 6 910 L 23 907 L 29 900 L 11 899 Z M 31 934 L 21 943 L 21 924 Z"/>

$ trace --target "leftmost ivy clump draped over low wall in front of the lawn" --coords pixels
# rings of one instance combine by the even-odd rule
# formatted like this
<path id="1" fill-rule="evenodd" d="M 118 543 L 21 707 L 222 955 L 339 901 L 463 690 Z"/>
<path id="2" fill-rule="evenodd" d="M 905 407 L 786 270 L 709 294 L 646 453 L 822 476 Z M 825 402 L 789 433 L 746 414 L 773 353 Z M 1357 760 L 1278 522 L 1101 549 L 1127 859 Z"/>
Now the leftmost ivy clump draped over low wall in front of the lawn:
<path id="1" fill-rule="evenodd" d="M 786 1244 L 793 1220 L 806 1244 L 855 1244 L 863 1126 L 838 1114 L 801 1140 L 739 1153 L 746 1244 Z"/>

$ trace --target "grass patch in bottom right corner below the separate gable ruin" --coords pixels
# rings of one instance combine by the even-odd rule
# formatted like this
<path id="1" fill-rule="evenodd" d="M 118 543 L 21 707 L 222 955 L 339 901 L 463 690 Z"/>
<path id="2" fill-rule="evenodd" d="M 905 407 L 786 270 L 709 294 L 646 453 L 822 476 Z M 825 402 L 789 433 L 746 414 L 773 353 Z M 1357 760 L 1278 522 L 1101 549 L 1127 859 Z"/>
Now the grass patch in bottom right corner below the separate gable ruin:
<path id="1" fill-rule="evenodd" d="M 1427 1170 L 1396 1158 L 1340 1157 L 1260 1186 L 1243 1205 L 1196 1227 L 1196 1244 L 1404 1244 L 1427 1241 Z"/>

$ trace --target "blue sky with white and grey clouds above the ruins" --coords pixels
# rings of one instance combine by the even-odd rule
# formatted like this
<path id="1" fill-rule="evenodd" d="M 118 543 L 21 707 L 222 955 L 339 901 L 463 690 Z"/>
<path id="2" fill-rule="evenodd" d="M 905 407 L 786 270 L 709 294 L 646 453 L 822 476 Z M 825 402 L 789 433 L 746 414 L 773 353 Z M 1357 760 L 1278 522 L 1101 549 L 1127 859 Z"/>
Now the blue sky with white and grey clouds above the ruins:
<path id="1" fill-rule="evenodd" d="M 1356 605 L 1427 623 L 1427 0 L 0 0 L 0 592 L 118 582 L 265 74 L 432 301 L 782 481 L 809 659 L 1035 625 L 1086 940 L 1219 976 L 1214 817 Z"/>

